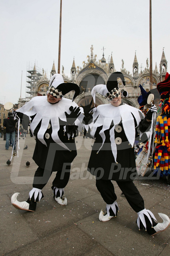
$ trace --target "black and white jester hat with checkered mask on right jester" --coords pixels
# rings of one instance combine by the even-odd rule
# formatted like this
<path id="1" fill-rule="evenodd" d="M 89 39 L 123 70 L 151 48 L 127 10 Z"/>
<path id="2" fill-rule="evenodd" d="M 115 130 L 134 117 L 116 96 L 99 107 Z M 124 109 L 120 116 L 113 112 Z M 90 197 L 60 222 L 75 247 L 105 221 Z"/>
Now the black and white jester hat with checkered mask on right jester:
<path id="1" fill-rule="evenodd" d="M 125 80 L 124 80 L 124 76 L 121 72 L 115 72 L 112 73 L 109 76 L 109 79 L 107 81 L 107 84 L 97 84 L 93 87 L 92 89 L 92 97 L 93 97 L 93 101 L 94 104 L 96 102 L 96 92 L 102 94 L 103 96 L 109 97 L 110 100 L 112 100 L 113 98 L 119 97 L 119 95 L 121 95 L 121 92 L 119 90 L 119 86 L 117 83 L 117 78 L 120 77 L 123 85 L 125 86 Z M 124 91 L 126 92 L 126 91 Z M 128 93 L 127 93 L 128 95 Z M 123 96 L 123 97 L 127 97 Z"/>

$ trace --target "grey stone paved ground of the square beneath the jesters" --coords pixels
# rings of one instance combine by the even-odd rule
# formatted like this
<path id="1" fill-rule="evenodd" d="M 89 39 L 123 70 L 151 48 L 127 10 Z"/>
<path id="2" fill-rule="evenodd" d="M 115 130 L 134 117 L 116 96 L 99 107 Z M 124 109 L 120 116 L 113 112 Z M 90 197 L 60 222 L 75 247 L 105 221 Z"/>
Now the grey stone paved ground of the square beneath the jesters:
<path id="1" fill-rule="evenodd" d="M 95 179 L 84 169 L 91 152 L 91 139 L 77 137 L 78 156 L 71 167 L 70 181 L 65 188 L 67 206 L 55 202 L 51 183 L 43 188 L 44 198 L 35 212 L 17 210 L 11 204 L 11 196 L 19 192 L 19 201 L 28 198 L 33 175 L 37 168 L 33 149 L 35 140 L 27 135 L 20 139 L 19 157 L 12 158 L 12 148 L 5 150 L 5 141 L 0 138 L 0 255 L 10 256 L 124 256 L 124 255 L 170 255 L 170 228 L 154 237 L 139 231 L 135 223 L 137 214 L 130 208 L 125 197 L 115 184 L 120 212 L 108 222 L 100 222 L 99 212 L 105 203 L 95 186 Z M 23 150 L 25 146 L 28 149 Z M 26 162 L 31 164 L 26 167 Z M 170 216 L 170 187 L 166 180 L 135 180 L 137 188 L 160 222 L 158 212 Z"/>

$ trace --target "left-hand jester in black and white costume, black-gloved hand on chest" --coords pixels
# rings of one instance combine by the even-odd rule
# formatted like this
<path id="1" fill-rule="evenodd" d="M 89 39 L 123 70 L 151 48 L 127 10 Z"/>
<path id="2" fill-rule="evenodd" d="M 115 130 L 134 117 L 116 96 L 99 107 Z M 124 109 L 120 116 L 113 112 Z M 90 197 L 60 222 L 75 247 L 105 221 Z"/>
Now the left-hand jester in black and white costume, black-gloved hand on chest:
<path id="1" fill-rule="evenodd" d="M 72 90 L 75 91 L 74 100 L 80 92 L 78 85 L 65 84 L 63 77 L 55 74 L 51 77 L 47 96 L 34 97 L 23 107 L 13 111 L 14 116 L 21 119 L 25 129 L 31 120 L 30 129 L 36 135 L 33 160 L 38 165 L 28 200 L 19 202 L 19 193 L 11 197 L 11 203 L 17 209 L 34 212 L 36 203 L 43 198 L 41 189 L 55 171 L 57 173 L 52 186 L 54 199 L 58 204 L 67 204 L 67 198 L 63 196 L 64 188 L 70 177 L 71 162 L 77 155 L 74 138 L 77 129 L 82 131 L 81 118 L 84 117 L 73 100 L 63 98 L 63 95 Z"/>

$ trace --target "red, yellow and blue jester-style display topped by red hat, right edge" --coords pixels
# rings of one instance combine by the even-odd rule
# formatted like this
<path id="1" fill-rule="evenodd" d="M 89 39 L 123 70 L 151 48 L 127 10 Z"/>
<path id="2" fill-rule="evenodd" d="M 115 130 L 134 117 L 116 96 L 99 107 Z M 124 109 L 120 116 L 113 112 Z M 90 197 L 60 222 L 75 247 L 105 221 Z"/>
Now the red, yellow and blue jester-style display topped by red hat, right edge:
<path id="1" fill-rule="evenodd" d="M 161 114 L 157 117 L 154 169 L 160 176 L 170 175 L 170 75 L 166 73 L 165 80 L 157 84 L 160 93 Z"/>

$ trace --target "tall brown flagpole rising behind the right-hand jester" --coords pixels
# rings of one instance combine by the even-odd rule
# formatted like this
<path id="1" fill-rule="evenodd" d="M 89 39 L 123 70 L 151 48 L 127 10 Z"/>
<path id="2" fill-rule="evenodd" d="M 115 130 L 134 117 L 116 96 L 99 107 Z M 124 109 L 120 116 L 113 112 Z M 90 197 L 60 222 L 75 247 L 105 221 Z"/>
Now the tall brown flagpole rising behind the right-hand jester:
<path id="1" fill-rule="evenodd" d="M 150 90 L 153 88 L 153 76 L 152 76 L 152 0 L 150 0 L 149 8 L 149 36 L 150 36 Z"/>

